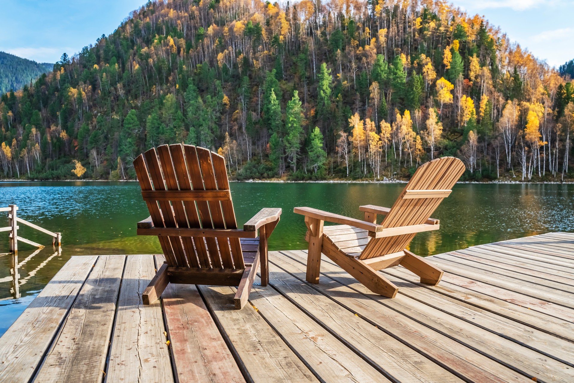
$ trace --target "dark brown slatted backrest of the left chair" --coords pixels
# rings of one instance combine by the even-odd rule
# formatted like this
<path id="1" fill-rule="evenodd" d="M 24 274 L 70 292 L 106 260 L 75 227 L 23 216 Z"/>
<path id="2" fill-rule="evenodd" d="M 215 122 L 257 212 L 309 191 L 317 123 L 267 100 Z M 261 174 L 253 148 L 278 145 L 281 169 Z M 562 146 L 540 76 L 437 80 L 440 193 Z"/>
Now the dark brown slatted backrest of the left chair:
<path id="1" fill-rule="evenodd" d="M 236 229 L 224 158 L 192 145 L 161 145 L 134 161 L 154 226 Z M 239 238 L 158 236 L 170 266 L 245 268 Z"/>

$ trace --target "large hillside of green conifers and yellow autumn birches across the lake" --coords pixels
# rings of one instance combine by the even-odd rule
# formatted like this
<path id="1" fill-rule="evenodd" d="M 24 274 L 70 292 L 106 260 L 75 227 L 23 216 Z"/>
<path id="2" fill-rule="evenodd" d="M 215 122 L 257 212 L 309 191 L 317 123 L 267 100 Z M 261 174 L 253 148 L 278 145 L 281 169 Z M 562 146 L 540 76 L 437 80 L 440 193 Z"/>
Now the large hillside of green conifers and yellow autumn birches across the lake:
<path id="1" fill-rule="evenodd" d="M 441 0 L 148 2 L 54 69 L 2 95 L 5 177 L 129 179 L 185 142 L 238 179 L 572 178 L 573 84 Z"/>

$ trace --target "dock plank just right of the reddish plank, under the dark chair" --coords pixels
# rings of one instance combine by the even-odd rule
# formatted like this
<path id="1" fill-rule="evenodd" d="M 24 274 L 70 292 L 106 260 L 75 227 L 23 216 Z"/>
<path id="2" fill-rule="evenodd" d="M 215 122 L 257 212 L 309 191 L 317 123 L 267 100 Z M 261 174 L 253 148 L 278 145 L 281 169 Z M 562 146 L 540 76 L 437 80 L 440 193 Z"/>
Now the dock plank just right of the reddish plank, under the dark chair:
<path id="1" fill-rule="evenodd" d="M 318 382 L 313 373 L 250 305 L 235 310 L 230 287 L 199 286 L 207 306 L 241 361 L 239 368 L 255 383 Z M 280 361 L 280 362 L 279 362 Z"/>

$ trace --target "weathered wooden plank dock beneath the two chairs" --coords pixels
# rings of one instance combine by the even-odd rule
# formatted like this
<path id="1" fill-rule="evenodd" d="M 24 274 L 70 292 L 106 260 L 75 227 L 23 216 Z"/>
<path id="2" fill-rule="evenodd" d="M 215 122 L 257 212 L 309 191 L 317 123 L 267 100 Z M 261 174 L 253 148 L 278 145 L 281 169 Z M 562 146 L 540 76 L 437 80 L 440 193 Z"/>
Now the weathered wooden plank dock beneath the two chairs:
<path id="1" fill-rule="evenodd" d="M 574 382 L 574 234 L 428 258 L 373 295 L 327 258 L 270 252 L 270 285 L 170 285 L 142 305 L 160 256 L 72 257 L 0 338 L 1 382 Z"/>

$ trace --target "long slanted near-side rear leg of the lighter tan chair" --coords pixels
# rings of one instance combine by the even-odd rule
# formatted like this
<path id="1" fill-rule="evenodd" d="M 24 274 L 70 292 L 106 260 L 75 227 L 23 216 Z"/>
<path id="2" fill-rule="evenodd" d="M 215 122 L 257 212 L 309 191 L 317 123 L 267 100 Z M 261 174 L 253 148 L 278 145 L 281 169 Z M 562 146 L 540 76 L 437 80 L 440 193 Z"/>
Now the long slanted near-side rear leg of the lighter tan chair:
<path id="1" fill-rule="evenodd" d="M 323 243 L 323 253 L 375 294 L 388 298 L 397 295 L 398 287 L 381 273 L 361 260 L 340 253 L 329 241 Z"/>

